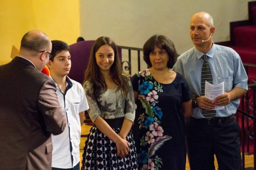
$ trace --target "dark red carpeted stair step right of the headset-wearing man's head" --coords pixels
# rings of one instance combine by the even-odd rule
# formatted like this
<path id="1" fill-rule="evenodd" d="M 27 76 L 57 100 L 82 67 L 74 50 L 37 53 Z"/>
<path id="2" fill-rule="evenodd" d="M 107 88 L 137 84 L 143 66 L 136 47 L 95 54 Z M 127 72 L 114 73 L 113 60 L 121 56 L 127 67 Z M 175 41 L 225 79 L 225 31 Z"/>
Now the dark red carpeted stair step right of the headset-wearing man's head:
<path id="1" fill-rule="evenodd" d="M 256 47 L 256 25 L 234 28 L 235 44 L 243 47 Z"/>

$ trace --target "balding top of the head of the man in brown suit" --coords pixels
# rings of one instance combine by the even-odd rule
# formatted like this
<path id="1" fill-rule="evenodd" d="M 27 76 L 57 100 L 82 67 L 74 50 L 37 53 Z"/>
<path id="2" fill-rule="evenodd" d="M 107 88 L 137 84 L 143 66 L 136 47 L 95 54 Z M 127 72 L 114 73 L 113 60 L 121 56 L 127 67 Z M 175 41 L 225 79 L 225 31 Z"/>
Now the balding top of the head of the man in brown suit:
<path id="1" fill-rule="evenodd" d="M 27 50 L 31 53 L 38 53 L 42 50 L 46 50 L 51 44 L 51 41 L 47 35 L 39 30 L 32 30 L 27 32 L 21 39 L 20 50 Z"/>

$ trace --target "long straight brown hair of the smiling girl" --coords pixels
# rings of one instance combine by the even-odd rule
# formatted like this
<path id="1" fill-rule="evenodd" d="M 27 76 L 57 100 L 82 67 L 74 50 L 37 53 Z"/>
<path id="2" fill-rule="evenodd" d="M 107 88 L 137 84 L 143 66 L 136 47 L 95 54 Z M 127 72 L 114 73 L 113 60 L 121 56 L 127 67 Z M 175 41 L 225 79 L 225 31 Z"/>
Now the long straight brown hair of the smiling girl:
<path id="1" fill-rule="evenodd" d="M 122 95 L 126 96 L 128 94 L 128 86 L 127 81 L 122 76 L 122 64 L 118 55 L 116 44 L 109 37 L 100 37 L 95 40 L 91 54 L 89 58 L 89 62 L 87 65 L 87 69 L 84 74 L 84 82 L 89 80 L 92 84 L 92 95 L 95 100 L 99 98 L 99 93 L 101 89 L 107 89 L 106 82 L 100 72 L 99 66 L 97 65 L 95 54 L 99 50 L 102 45 L 109 45 L 114 50 L 114 63 L 110 67 L 109 74 L 113 78 L 114 83 L 117 85 L 117 90 L 121 90 Z"/>

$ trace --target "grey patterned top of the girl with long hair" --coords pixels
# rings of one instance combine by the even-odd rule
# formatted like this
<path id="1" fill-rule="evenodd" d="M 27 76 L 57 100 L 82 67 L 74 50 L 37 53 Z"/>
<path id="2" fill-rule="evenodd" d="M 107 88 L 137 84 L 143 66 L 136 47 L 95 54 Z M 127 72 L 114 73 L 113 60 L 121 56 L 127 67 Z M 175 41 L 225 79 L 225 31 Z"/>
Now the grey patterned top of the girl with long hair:
<path id="1" fill-rule="evenodd" d="M 86 98 L 89 104 L 89 116 L 94 122 L 98 116 L 103 119 L 113 119 L 124 117 L 134 121 L 135 104 L 131 80 L 123 75 L 129 83 L 129 93 L 126 97 L 121 96 L 121 91 L 117 91 L 117 87 L 113 89 L 101 90 L 100 97 L 95 101 L 92 98 L 91 82 L 86 81 L 83 85 Z"/>

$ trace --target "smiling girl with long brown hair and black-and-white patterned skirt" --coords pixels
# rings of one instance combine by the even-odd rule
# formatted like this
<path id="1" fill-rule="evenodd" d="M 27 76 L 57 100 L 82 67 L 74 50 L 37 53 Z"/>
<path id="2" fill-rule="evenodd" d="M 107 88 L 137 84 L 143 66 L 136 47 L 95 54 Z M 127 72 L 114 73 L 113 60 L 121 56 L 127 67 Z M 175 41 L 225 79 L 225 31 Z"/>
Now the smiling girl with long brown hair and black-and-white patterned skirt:
<path id="1" fill-rule="evenodd" d="M 137 169 L 131 133 L 132 85 L 122 74 L 117 47 L 110 38 L 95 40 L 83 86 L 94 125 L 85 141 L 82 169 Z"/>

